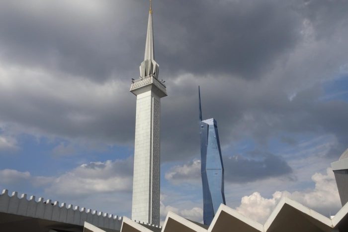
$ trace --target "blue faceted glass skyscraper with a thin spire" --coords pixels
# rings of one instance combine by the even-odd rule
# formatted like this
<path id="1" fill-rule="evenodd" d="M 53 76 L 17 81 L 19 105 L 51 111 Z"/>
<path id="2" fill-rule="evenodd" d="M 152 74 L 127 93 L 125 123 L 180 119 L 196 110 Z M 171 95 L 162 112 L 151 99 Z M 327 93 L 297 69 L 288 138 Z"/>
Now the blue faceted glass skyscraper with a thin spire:
<path id="1" fill-rule="evenodd" d="M 217 122 L 214 118 L 202 120 L 199 98 L 200 155 L 203 187 L 203 221 L 210 225 L 221 204 L 226 204 L 224 193 L 224 166 L 222 163 Z"/>

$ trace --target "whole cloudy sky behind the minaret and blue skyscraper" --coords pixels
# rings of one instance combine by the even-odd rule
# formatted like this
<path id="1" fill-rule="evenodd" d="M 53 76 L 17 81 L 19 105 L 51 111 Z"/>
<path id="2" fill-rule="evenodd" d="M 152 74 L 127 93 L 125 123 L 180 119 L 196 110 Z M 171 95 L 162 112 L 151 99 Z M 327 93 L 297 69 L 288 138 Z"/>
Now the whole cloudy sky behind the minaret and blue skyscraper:
<path id="1" fill-rule="evenodd" d="M 0 188 L 130 217 L 147 0 L 0 1 Z M 348 0 L 154 0 L 161 215 L 202 221 L 197 86 L 229 207 L 340 208 Z M 328 169 L 329 168 L 329 169 Z"/>

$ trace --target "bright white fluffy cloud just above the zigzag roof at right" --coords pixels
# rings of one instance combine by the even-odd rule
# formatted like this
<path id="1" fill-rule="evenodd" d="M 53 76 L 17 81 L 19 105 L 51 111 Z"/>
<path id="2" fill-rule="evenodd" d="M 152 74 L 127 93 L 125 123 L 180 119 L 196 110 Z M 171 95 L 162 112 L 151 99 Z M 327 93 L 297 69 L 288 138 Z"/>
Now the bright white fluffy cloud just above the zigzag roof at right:
<path id="1" fill-rule="evenodd" d="M 236 210 L 251 219 L 264 223 L 279 200 L 282 197 L 288 197 L 326 216 L 337 212 L 341 207 L 341 202 L 332 169 L 328 168 L 326 174 L 315 173 L 312 180 L 315 182 L 314 189 L 293 193 L 276 191 L 272 198 L 264 198 L 258 192 L 244 196 L 241 205 Z"/>

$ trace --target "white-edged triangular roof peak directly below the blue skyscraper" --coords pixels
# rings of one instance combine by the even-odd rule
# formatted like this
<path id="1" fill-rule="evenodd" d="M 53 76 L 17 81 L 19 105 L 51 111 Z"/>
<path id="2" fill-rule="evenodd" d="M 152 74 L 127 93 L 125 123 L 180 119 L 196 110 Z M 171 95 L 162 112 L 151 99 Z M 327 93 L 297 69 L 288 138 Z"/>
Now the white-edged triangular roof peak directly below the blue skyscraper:
<path id="1" fill-rule="evenodd" d="M 238 232 L 264 232 L 260 223 L 221 204 L 209 226 L 208 232 L 225 232 L 228 228 L 234 228 Z"/>

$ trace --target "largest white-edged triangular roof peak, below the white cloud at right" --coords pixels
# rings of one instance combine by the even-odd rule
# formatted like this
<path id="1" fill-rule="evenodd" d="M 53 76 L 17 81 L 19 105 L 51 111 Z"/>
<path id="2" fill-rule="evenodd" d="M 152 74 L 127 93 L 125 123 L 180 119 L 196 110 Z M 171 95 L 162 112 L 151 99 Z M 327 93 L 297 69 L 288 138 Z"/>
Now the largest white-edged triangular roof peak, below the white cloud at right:
<path id="1" fill-rule="evenodd" d="M 332 221 L 289 198 L 282 198 L 264 224 L 265 232 L 331 232 Z"/>

